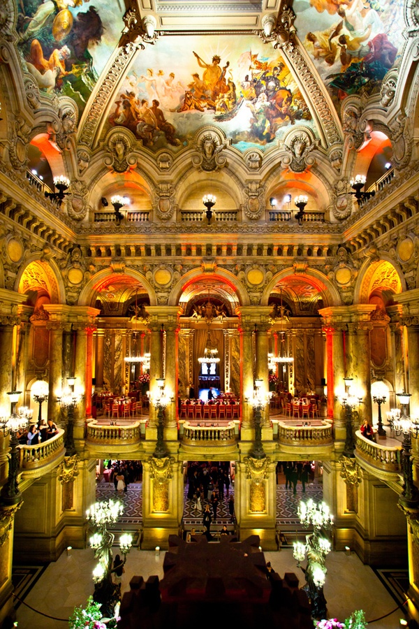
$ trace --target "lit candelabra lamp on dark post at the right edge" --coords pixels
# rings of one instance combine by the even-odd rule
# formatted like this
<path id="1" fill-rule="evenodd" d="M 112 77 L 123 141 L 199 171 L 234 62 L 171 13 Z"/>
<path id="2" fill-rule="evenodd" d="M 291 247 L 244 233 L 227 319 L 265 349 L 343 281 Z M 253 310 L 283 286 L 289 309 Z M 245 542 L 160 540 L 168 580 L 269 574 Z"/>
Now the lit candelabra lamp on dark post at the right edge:
<path id="1" fill-rule="evenodd" d="M 411 460 L 412 435 L 418 438 L 419 421 L 411 419 L 408 414 L 410 393 L 396 393 L 402 412 L 398 409 L 388 414 L 389 424 L 397 435 L 403 435 L 402 442 L 402 473 L 403 491 L 399 496 L 399 505 L 407 509 L 418 509 L 419 489 L 413 482 L 413 464 Z"/>

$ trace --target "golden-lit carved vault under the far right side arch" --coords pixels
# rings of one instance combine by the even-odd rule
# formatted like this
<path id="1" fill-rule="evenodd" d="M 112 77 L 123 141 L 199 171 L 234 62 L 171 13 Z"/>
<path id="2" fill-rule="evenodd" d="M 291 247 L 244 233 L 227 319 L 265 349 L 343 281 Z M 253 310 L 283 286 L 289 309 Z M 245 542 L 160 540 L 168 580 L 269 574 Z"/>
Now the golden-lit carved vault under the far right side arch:
<path id="1" fill-rule="evenodd" d="M 407 290 L 406 280 L 402 268 L 397 262 L 385 252 L 379 252 L 380 259 L 371 261 L 368 257 L 360 267 L 358 277 L 353 291 L 353 303 L 368 303 L 369 295 L 372 291 L 371 282 L 374 274 L 382 268 L 383 282 L 388 290 L 394 294 L 399 294 Z"/>

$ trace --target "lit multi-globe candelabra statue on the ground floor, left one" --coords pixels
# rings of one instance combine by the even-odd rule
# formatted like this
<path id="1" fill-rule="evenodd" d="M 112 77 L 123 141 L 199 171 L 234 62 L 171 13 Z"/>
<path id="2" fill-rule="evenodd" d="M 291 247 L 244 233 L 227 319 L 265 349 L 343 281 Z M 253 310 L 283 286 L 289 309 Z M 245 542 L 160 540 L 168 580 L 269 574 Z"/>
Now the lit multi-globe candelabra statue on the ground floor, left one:
<path id="1" fill-rule="evenodd" d="M 94 549 L 94 556 L 98 563 L 93 571 L 94 595 L 96 602 L 101 604 L 103 616 L 111 618 L 115 613 L 115 605 L 121 599 L 120 585 L 112 580 L 112 545 L 115 535 L 109 527 L 115 524 L 124 512 L 122 503 L 116 500 L 108 500 L 103 503 L 95 503 L 87 509 L 87 521 L 91 528 L 89 544 Z M 132 535 L 124 533 L 119 537 L 119 549 L 126 562 L 126 555 L 133 545 Z"/>

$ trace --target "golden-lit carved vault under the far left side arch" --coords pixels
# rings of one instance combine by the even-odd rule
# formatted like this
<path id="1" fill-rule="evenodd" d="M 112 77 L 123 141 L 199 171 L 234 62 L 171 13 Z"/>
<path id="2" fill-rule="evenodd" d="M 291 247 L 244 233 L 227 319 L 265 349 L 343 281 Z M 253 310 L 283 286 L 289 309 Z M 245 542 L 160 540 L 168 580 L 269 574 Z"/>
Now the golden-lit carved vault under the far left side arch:
<path id="1" fill-rule="evenodd" d="M 24 294 L 26 287 L 36 285 L 50 295 L 51 303 L 66 303 L 66 291 L 57 262 L 43 261 L 41 254 L 32 254 L 20 268 L 16 277 L 15 291 Z"/>

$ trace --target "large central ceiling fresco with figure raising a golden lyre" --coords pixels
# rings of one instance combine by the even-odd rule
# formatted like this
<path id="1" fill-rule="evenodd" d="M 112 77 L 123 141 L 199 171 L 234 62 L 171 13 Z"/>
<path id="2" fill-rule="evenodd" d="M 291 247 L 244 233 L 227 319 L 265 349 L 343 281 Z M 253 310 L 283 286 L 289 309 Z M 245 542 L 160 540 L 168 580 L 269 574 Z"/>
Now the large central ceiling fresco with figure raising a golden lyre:
<path id="1" fill-rule="evenodd" d="M 240 150 L 264 150 L 292 125 L 314 127 L 284 59 L 252 36 L 162 37 L 138 53 L 108 123 L 152 150 L 176 150 L 205 124 Z"/>

